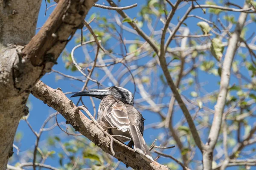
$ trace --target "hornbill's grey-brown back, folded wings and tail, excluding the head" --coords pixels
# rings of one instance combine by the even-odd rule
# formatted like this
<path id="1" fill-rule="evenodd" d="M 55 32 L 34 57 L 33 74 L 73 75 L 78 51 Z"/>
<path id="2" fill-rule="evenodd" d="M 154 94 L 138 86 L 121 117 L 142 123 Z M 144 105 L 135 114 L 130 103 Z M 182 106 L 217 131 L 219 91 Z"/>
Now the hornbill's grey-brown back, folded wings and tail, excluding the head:
<path id="1" fill-rule="evenodd" d="M 134 150 L 136 150 L 143 159 L 148 162 L 154 161 L 150 154 L 147 144 L 143 139 L 144 130 L 144 118 L 141 113 L 137 111 L 132 105 L 126 105 L 120 101 L 109 96 L 103 99 L 102 107 L 105 111 L 102 112 L 105 121 L 112 127 L 116 127 L 117 130 L 122 132 L 128 132 L 131 135 L 131 139 L 134 142 Z"/>

